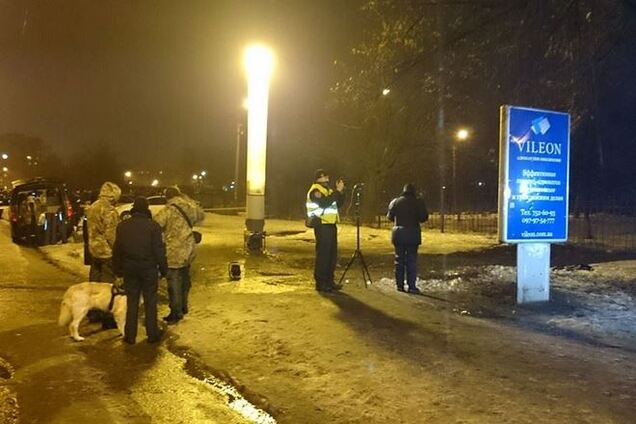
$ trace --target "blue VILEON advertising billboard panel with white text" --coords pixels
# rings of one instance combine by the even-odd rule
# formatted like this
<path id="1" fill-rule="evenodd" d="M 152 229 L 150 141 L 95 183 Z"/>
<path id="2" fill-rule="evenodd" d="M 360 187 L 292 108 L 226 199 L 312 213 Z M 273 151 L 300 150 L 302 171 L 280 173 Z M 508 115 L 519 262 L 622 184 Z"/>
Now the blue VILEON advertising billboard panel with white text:
<path id="1" fill-rule="evenodd" d="M 500 240 L 567 241 L 570 115 L 502 106 L 499 149 Z"/>

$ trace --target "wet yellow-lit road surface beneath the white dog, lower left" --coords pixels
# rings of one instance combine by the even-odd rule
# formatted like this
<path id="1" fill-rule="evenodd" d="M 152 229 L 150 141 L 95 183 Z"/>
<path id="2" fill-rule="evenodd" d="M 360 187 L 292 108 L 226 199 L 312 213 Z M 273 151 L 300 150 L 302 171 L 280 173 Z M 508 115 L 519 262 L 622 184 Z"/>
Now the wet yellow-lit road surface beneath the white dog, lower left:
<path id="1" fill-rule="evenodd" d="M 128 346 L 117 330 L 86 324 L 86 341 L 74 342 L 56 321 L 64 290 L 81 278 L 14 245 L 0 226 L 0 422 L 250 422 L 187 373 L 170 336 Z"/>

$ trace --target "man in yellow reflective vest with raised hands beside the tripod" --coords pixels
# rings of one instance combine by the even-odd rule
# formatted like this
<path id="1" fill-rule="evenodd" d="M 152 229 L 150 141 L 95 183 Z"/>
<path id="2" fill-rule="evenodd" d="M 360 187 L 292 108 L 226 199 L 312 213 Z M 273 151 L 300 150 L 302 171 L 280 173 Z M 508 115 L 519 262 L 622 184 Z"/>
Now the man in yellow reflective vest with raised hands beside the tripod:
<path id="1" fill-rule="evenodd" d="M 316 171 L 314 183 L 307 192 L 307 216 L 314 220 L 316 237 L 316 262 L 314 279 L 316 290 L 332 292 L 340 287 L 334 283 L 338 259 L 338 208 L 344 204 L 344 181 L 336 181 L 336 189 L 329 187 L 329 174 Z"/>

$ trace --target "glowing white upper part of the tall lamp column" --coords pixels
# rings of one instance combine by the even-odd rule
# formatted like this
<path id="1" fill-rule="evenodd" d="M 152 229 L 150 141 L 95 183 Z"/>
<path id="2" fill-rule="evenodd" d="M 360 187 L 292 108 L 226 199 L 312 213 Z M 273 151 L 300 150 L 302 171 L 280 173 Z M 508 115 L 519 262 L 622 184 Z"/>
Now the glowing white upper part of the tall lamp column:
<path id="1" fill-rule="evenodd" d="M 267 111 L 274 55 L 263 45 L 245 50 L 247 72 L 247 194 L 265 194 Z"/>

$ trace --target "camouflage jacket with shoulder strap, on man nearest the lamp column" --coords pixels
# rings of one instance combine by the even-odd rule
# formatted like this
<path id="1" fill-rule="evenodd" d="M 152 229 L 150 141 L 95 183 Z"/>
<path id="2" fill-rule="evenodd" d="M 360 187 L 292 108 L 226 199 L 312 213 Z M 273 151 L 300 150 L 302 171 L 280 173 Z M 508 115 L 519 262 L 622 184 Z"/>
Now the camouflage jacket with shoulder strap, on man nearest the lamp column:
<path id="1" fill-rule="evenodd" d="M 194 236 L 188 222 L 173 205 L 177 205 L 183 210 L 192 225 L 202 222 L 205 213 L 194 200 L 182 194 L 168 200 L 166 206 L 153 217 L 163 230 L 168 267 L 183 268 L 194 259 Z"/>

